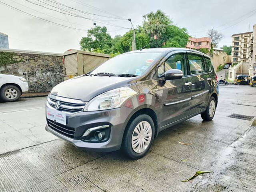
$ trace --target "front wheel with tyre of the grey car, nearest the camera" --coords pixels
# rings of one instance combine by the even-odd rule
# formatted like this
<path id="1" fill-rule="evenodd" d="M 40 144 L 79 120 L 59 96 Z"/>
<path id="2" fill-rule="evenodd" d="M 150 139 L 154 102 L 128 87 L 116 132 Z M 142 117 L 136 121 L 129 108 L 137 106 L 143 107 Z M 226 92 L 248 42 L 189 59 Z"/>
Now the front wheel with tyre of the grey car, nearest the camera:
<path id="1" fill-rule="evenodd" d="M 142 158 L 154 140 L 154 122 L 146 114 L 134 118 L 124 134 L 122 149 L 132 159 Z"/>

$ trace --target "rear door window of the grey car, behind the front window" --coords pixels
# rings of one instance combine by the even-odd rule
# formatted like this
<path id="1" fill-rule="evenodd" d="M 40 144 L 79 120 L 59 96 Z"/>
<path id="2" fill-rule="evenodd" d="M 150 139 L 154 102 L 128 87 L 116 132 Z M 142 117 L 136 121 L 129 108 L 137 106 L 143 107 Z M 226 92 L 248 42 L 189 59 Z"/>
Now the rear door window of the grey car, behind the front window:
<path id="1" fill-rule="evenodd" d="M 204 60 L 199 55 L 188 54 L 188 62 L 190 66 L 190 74 L 204 73 Z"/>

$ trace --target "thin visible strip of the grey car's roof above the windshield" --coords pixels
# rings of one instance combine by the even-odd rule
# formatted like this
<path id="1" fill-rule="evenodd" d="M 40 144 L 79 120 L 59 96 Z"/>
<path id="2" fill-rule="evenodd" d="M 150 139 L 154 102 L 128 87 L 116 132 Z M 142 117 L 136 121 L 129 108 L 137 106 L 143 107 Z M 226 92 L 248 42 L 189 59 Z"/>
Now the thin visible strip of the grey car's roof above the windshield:
<path id="1" fill-rule="evenodd" d="M 200 52 L 200 51 L 196 51 L 196 50 L 192 50 L 192 49 L 186 49 L 186 48 L 177 48 L 177 47 L 169 47 L 169 48 L 148 48 L 148 49 L 142 49 L 142 50 L 136 50 L 136 51 L 130 51 L 130 52 L 126 52 L 124 54 L 129 54 L 129 53 L 138 53 L 138 52 L 163 52 L 165 54 L 167 54 L 168 52 L 171 51 L 190 51 L 190 52 L 194 52 L 196 54 L 200 54 L 203 55 L 207 58 L 210 58 L 208 55 Z"/>

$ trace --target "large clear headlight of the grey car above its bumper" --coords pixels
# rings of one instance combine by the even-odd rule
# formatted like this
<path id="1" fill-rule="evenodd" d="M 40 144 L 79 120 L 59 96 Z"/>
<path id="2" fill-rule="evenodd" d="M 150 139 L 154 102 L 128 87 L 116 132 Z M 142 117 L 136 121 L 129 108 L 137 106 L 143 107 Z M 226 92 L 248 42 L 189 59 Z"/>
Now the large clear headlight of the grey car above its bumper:
<path id="1" fill-rule="evenodd" d="M 128 98 L 138 94 L 129 87 L 121 87 L 102 93 L 85 106 L 84 111 L 98 111 L 120 107 Z"/>

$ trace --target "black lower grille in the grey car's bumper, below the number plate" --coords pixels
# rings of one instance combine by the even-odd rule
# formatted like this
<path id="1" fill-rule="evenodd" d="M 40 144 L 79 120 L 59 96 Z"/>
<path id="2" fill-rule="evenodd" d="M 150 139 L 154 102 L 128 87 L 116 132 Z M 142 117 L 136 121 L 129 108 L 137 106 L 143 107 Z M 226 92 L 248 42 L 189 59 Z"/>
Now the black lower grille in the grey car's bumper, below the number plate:
<path id="1" fill-rule="evenodd" d="M 48 126 L 54 131 L 74 139 L 75 129 L 47 119 Z"/>

